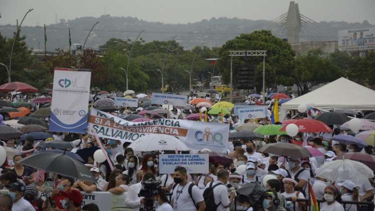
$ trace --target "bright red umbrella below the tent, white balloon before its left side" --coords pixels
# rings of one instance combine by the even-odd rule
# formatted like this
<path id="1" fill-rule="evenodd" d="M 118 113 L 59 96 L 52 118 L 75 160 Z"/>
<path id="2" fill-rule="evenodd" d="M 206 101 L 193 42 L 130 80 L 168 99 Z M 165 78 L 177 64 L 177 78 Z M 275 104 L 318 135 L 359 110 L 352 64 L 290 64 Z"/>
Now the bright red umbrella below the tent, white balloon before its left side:
<path id="1" fill-rule="evenodd" d="M 302 119 L 289 124 L 296 124 L 298 126 L 298 131 L 301 133 L 332 133 L 332 129 L 330 127 L 328 127 L 326 124 L 318 120 Z M 280 131 L 285 131 L 288 125 L 284 125 L 284 127 L 280 129 Z"/>

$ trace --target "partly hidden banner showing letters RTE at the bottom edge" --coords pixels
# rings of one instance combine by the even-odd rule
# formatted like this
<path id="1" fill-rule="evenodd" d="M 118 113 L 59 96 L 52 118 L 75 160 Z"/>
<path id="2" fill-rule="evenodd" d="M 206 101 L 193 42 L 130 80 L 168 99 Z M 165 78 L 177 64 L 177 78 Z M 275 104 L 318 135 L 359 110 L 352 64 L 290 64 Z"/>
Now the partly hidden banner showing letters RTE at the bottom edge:
<path id="1" fill-rule="evenodd" d="M 94 203 L 99 210 L 130 211 L 132 208 L 125 207 L 125 194 L 112 194 L 110 192 L 82 192 L 83 207 L 85 204 Z"/>

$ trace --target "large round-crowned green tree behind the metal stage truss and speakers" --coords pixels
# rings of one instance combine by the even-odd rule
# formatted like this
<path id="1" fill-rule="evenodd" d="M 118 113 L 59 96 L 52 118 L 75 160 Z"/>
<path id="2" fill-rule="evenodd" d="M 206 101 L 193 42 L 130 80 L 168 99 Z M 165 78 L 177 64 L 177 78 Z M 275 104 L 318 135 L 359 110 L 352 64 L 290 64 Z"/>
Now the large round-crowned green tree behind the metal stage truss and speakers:
<path id="1" fill-rule="evenodd" d="M 230 78 L 231 50 L 266 50 L 266 87 L 277 84 L 292 85 L 291 70 L 293 69 L 294 51 L 291 46 L 280 38 L 272 35 L 271 31 L 255 31 L 251 34 L 241 34 L 233 40 L 228 40 L 220 49 L 218 61 L 219 69 L 225 83 Z M 239 65 L 255 64 L 255 83 L 257 90 L 263 86 L 263 57 L 245 56 L 233 57 L 233 86 L 236 84 L 237 67 Z"/>

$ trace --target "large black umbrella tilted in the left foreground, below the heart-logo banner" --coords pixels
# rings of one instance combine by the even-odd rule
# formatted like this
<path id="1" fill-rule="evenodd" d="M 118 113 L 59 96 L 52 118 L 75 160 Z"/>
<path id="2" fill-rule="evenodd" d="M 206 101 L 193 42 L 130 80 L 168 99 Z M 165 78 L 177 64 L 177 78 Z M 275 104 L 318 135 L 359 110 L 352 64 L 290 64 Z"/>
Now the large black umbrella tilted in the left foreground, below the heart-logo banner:
<path id="1" fill-rule="evenodd" d="M 20 160 L 20 163 L 32 168 L 96 183 L 96 179 L 83 163 L 66 154 L 36 153 Z"/>

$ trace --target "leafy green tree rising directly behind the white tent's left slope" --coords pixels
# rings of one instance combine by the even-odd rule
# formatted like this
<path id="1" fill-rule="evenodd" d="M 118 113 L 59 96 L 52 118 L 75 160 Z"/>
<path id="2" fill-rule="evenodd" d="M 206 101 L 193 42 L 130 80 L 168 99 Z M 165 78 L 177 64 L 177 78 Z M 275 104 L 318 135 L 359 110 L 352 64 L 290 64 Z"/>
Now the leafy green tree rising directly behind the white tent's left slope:
<path id="1" fill-rule="evenodd" d="M 311 50 L 307 55 L 297 56 L 293 69 L 294 83 L 298 94 L 305 94 L 319 83 L 331 82 L 343 75 L 333 59 L 324 57 L 320 50 Z"/>

